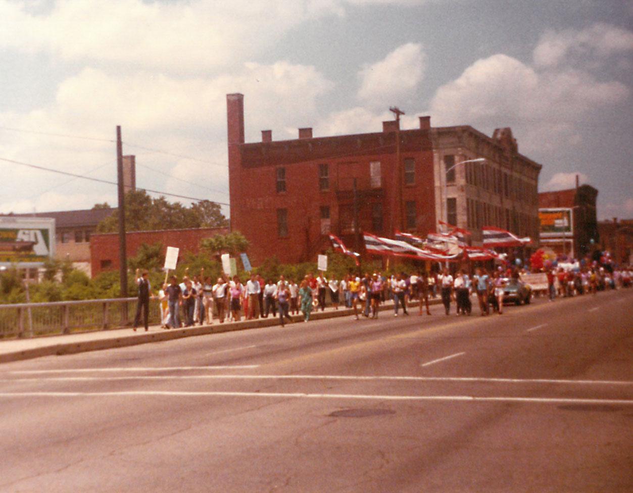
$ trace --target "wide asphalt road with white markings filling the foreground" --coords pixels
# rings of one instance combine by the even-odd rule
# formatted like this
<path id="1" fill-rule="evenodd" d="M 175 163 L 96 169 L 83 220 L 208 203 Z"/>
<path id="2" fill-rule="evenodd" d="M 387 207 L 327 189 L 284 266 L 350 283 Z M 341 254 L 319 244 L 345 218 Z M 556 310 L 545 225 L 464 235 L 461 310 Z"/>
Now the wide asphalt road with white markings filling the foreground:
<path id="1" fill-rule="evenodd" d="M 7 363 L 0 491 L 631 492 L 632 301 Z"/>

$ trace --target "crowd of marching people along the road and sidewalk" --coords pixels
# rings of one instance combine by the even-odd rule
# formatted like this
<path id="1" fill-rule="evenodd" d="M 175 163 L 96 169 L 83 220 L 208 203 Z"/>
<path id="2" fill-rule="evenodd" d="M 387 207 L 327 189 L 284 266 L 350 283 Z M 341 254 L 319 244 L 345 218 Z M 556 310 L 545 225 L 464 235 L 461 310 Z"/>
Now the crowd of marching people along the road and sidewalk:
<path id="1" fill-rule="evenodd" d="M 455 303 L 457 315 L 472 313 L 472 295 L 477 296 L 481 316 L 503 313 L 503 299 L 506 283 L 511 278 L 520 278 L 528 273 L 525 269 L 512 266 L 498 266 L 491 271 L 477 268 L 473 275 L 466 270 L 449 273 L 447 268 L 439 271 L 419 271 L 413 274 L 398 273 L 389 277 L 380 272 L 365 275 L 349 273 L 341 279 L 308 273 L 299 284 L 294 279 L 263 278 L 251 274 L 248 280 L 235 275 L 218 277 L 215 282 L 204 274 L 189 277 L 181 282 L 172 276 L 157 296 L 151 294 L 147 281 L 147 271 L 137 270 L 139 304 L 134 322 L 134 330 L 144 317 L 147 330 L 147 311 L 150 297 L 158 298 L 163 328 L 192 327 L 225 321 L 240 321 L 279 316 L 281 325 L 291 322 L 290 315 L 301 313 L 303 321 L 309 321 L 313 311 L 324 311 L 327 299 L 334 309 L 339 306 L 352 308 L 354 319 L 360 316 L 378 318 L 379 306 L 387 300 L 393 301 L 393 315 L 400 309 L 408 316 L 408 304 L 419 299 L 418 315 L 430 315 L 429 299 L 441 296 L 446 315 L 450 314 L 451 303 Z M 589 267 L 582 270 L 549 268 L 549 299 L 556 296 L 576 296 L 596 293 L 601 289 L 629 287 L 633 273 L 630 269 L 605 270 L 603 267 Z"/>

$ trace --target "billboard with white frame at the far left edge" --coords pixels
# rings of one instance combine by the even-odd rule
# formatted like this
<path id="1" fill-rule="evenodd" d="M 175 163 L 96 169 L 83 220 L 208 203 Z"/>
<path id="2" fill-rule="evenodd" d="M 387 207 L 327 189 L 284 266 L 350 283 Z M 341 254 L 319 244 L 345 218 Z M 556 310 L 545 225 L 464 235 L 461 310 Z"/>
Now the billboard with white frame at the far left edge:
<path id="1" fill-rule="evenodd" d="M 0 217 L 0 266 L 39 267 L 54 253 L 53 218 Z"/>

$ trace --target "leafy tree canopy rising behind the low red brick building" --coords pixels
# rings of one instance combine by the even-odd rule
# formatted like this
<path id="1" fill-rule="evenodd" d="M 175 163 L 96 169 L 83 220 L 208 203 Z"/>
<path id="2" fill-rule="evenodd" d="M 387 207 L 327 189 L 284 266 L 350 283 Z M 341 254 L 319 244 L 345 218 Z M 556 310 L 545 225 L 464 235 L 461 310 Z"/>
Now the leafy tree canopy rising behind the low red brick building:
<path id="1" fill-rule="evenodd" d="M 102 208 L 104 204 L 96 204 Z M 130 190 L 125 194 L 125 229 L 149 231 L 162 229 L 220 228 L 229 224 L 220 204 L 210 201 L 192 203 L 186 207 L 179 202 L 168 202 L 165 197 L 150 197 L 144 190 Z M 118 212 L 97 225 L 97 232 L 118 231 Z"/>

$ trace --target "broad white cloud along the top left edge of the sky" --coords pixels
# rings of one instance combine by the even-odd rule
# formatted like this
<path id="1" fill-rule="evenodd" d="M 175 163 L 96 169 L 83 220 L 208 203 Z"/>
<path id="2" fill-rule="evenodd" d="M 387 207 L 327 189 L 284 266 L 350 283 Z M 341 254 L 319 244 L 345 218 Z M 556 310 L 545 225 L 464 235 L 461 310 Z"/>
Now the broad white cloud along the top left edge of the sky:
<path id="1" fill-rule="evenodd" d="M 332 0 L 57 0 L 39 14 L 0 0 L 0 47 L 198 73 L 261 53 L 305 20 L 342 13 Z"/>

